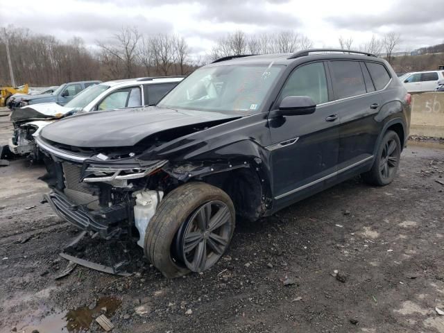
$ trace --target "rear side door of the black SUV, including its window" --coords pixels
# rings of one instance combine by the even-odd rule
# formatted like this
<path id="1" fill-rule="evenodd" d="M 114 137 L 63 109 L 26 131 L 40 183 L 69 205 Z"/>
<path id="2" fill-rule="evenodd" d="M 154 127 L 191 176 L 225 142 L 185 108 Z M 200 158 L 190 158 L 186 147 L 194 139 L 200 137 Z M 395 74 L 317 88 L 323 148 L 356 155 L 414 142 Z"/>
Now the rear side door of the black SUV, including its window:
<path id="1" fill-rule="evenodd" d="M 381 66 L 369 63 L 371 70 L 381 70 L 373 68 L 373 64 Z M 382 104 L 377 87 L 382 85 L 382 81 L 375 83 L 366 64 L 357 60 L 332 60 L 329 69 L 335 100 L 331 108 L 332 112 L 339 114 L 341 122 L 338 158 L 338 171 L 341 173 L 373 159 L 379 134 L 374 117 Z M 382 70 L 386 72 L 385 67 Z"/>

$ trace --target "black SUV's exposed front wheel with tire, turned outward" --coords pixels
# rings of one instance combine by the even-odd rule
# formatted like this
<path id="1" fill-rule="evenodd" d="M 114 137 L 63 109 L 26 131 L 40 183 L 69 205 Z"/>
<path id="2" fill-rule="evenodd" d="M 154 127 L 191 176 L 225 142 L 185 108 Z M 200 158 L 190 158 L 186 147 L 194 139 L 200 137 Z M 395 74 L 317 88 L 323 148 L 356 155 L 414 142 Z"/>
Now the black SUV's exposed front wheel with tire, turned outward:
<path id="1" fill-rule="evenodd" d="M 144 253 L 166 278 L 201 272 L 222 257 L 235 225 L 230 196 L 205 182 L 173 189 L 145 232 Z"/>

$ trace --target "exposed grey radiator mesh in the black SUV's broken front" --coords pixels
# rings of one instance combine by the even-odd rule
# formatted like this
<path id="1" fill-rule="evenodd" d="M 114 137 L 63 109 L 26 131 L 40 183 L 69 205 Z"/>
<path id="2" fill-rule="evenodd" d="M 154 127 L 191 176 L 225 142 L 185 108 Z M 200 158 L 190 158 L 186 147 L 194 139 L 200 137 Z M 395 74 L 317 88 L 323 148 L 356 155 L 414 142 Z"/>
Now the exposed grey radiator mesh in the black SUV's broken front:
<path id="1" fill-rule="evenodd" d="M 90 210 L 99 210 L 99 196 L 91 186 L 80 182 L 81 167 L 64 162 L 62 163 L 65 176 L 65 195 L 77 205 L 86 205 Z"/>

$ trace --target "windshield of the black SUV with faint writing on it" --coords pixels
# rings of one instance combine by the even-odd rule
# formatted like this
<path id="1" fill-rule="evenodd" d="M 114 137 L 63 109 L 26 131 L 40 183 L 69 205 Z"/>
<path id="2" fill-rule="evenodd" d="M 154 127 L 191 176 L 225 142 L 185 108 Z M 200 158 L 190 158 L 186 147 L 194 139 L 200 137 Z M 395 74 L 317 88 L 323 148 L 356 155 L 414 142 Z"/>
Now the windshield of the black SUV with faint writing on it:
<path id="1" fill-rule="evenodd" d="M 225 65 L 194 71 L 157 104 L 161 108 L 259 112 L 284 66 Z"/>

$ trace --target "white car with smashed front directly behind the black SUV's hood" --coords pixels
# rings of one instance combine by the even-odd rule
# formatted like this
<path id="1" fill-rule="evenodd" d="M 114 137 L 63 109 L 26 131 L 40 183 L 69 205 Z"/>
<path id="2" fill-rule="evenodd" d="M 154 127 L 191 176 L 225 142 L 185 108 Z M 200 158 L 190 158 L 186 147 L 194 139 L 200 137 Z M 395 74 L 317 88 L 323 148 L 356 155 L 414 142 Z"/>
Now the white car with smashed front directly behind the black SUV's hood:
<path id="1" fill-rule="evenodd" d="M 115 80 L 87 87 L 65 105 L 41 103 L 15 109 L 10 116 L 14 133 L 8 146 L 16 155 L 28 155 L 39 160 L 34 137 L 44 126 L 78 112 L 92 112 L 155 105 L 182 76 Z"/>

